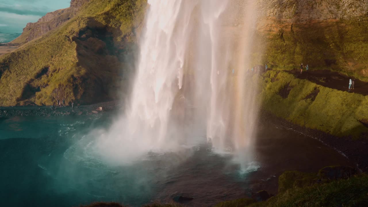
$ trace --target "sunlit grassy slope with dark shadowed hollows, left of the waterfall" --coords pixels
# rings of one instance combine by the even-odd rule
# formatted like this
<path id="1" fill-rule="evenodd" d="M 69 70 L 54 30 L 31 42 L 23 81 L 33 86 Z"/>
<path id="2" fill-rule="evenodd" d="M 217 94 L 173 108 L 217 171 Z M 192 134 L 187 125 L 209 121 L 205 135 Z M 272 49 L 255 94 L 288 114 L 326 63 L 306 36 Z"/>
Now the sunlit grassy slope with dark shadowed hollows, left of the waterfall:
<path id="1" fill-rule="evenodd" d="M 67 103 L 77 99 L 91 103 L 113 98 L 109 91 L 118 87 L 113 83 L 122 81 L 119 70 L 124 66 L 120 53 L 114 51 L 129 50 L 145 5 L 145 0 L 92 0 L 60 28 L 1 56 L 0 105 L 29 101 L 52 105 L 58 98 Z M 81 41 L 78 35 L 88 29 L 111 34 L 113 44 L 106 45 L 94 36 Z"/>

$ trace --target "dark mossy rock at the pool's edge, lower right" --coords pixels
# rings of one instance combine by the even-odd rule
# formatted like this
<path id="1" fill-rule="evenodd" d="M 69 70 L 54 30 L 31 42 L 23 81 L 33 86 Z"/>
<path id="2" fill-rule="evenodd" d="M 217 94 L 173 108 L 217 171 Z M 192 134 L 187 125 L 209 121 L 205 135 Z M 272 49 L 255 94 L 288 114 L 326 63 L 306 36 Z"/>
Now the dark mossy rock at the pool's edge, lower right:
<path id="1" fill-rule="evenodd" d="M 346 179 L 357 174 L 357 170 L 350 166 L 328 166 L 322 168 L 318 172 L 318 176 L 321 179 Z"/>

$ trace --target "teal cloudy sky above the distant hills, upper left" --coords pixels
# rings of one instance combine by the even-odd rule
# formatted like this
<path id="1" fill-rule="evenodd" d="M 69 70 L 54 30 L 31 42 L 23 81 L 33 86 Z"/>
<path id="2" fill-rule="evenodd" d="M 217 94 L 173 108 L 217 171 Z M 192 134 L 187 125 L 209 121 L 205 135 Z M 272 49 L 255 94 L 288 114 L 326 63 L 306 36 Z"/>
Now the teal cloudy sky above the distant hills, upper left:
<path id="1" fill-rule="evenodd" d="M 47 12 L 69 6 L 70 0 L 0 0 L 0 42 L 19 35 L 28 22 L 38 21 Z"/>

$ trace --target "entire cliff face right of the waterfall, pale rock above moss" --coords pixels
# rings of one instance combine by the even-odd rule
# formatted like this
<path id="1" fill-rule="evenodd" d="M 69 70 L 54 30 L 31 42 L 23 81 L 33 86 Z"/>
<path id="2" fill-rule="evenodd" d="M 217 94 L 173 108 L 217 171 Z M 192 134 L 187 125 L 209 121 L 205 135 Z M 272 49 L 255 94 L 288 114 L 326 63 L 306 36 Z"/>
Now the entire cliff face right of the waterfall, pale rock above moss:
<path id="1" fill-rule="evenodd" d="M 255 62 L 335 70 L 368 81 L 368 0 L 258 2 Z"/>

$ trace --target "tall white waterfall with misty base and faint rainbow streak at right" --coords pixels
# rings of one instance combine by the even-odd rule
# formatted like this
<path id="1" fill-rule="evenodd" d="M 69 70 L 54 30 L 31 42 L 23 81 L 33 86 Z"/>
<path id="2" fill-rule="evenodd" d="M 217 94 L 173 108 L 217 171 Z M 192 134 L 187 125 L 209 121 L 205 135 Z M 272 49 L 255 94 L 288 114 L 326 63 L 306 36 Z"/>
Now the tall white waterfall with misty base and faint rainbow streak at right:
<path id="1" fill-rule="evenodd" d="M 234 4 L 148 0 L 131 100 L 99 138 L 104 156 L 130 160 L 207 138 L 216 151 L 251 160 L 256 84 L 245 70 L 255 7 L 250 0 L 233 11 Z"/>

